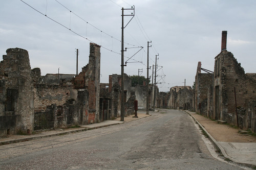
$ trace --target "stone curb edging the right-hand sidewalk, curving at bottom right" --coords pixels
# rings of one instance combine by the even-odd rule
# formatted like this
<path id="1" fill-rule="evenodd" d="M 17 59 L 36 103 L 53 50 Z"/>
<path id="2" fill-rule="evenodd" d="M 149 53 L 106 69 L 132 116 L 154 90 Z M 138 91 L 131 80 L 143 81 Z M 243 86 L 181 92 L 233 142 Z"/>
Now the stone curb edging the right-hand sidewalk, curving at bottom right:
<path id="1" fill-rule="evenodd" d="M 205 131 L 205 133 L 209 136 L 209 139 L 210 139 L 212 142 L 214 142 L 215 146 L 219 149 L 219 151 L 221 151 L 222 155 L 223 155 L 225 158 L 227 158 L 227 159 L 229 159 L 229 160 L 231 160 L 231 161 L 233 161 L 233 162 L 243 164 L 243 165 L 255 166 L 255 165 L 252 165 L 252 164 L 240 162 L 240 161 L 238 161 L 238 160 L 236 160 L 236 159 L 233 159 L 233 158 L 229 157 L 229 156 L 227 155 L 226 151 L 222 148 L 222 146 L 215 140 L 214 137 L 212 137 L 212 136 L 209 134 L 209 132 L 197 121 L 197 119 L 196 119 L 193 115 L 191 115 L 190 113 L 188 113 L 187 111 L 185 111 L 185 110 L 183 110 L 183 111 L 186 112 L 187 114 L 189 114 L 191 117 L 194 118 L 194 120 L 196 121 L 196 123 L 198 123 L 198 125 Z"/>

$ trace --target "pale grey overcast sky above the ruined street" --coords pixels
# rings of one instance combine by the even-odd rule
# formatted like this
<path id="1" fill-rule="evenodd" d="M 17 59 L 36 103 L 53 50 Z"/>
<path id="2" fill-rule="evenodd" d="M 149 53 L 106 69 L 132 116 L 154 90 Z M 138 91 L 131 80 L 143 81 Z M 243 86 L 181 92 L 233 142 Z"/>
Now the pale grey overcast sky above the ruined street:
<path id="1" fill-rule="evenodd" d="M 108 83 L 109 75 L 121 74 L 121 7 L 131 8 L 132 5 L 135 17 L 124 29 L 124 47 L 144 48 L 124 67 L 127 75 L 138 75 L 138 69 L 143 69 L 141 75 L 146 77 L 147 41 L 152 41 L 149 65 L 155 64 L 159 53 L 160 91 L 182 86 L 184 79 L 186 85 L 192 86 L 198 61 L 202 62 L 202 68 L 214 70 L 223 30 L 227 31 L 227 50 L 245 72 L 256 72 L 255 0 L 23 1 L 42 14 L 20 0 L 1 1 L 0 53 L 6 55 L 6 50 L 14 47 L 27 50 L 31 68 L 39 67 L 42 76 L 56 74 L 58 68 L 60 74 L 76 74 L 76 48 L 79 49 L 80 72 L 89 61 L 90 41 L 85 38 L 102 45 L 100 82 Z M 125 14 L 131 12 L 125 10 Z M 125 16 L 124 24 L 130 19 Z M 138 50 L 127 49 L 124 61 Z"/>

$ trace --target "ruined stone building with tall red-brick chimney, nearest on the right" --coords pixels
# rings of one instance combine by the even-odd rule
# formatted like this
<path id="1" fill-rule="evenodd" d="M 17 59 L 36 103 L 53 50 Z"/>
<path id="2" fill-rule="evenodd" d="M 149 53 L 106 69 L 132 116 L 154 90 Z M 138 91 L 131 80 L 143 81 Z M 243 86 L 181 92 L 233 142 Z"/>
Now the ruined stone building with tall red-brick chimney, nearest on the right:
<path id="1" fill-rule="evenodd" d="M 221 53 L 215 57 L 213 117 L 237 125 L 237 103 L 239 127 L 256 132 L 256 74 L 245 74 L 241 64 L 226 50 L 226 41 L 227 31 L 223 31 Z"/>

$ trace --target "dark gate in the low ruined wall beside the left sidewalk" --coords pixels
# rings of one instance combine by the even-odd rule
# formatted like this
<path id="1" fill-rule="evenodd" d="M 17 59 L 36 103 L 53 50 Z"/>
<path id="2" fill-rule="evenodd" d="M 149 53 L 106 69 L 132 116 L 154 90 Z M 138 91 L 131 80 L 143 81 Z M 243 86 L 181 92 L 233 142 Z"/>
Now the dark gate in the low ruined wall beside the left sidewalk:
<path id="1" fill-rule="evenodd" d="M 51 111 L 35 112 L 34 130 L 44 130 L 53 128 L 54 120 Z"/>

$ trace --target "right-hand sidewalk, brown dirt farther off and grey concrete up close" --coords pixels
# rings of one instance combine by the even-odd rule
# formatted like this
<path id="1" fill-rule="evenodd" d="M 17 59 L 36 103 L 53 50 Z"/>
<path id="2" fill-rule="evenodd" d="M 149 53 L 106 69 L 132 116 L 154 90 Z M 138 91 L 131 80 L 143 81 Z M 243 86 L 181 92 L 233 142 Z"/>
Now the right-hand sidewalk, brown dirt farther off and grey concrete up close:
<path id="1" fill-rule="evenodd" d="M 196 114 L 195 112 L 185 111 L 195 118 L 196 122 L 199 126 L 207 133 L 209 139 L 215 143 L 216 147 L 219 148 L 223 156 L 233 162 L 242 163 L 242 164 L 250 164 L 256 167 L 256 137 L 255 136 L 241 136 L 244 138 L 248 138 L 248 142 L 237 142 L 238 139 L 236 137 L 229 137 L 227 134 L 230 131 L 230 127 L 228 125 L 221 125 L 202 115 Z M 209 126 L 211 124 L 211 126 Z M 224 133 L 221 134 L 218 129 L 224 128 Z M 216 131 L 216 134 L 214 132 Z M 238 129 L 236 129 L 238 133 Z M 209 133 L 210 132 L 210 133 Z M 220 136 L 222 135 L 222 137 Z M 223 137 L 223 135 L 226 135 Z M 232 134 L 231 134 L 232 135 Z M 212 137 L 212 136 L 215 136 Z M 220 141 L 222 138 L 228 138 L 227 141 Z M 237 137 L 238 138 L 238 137 Z"/>

